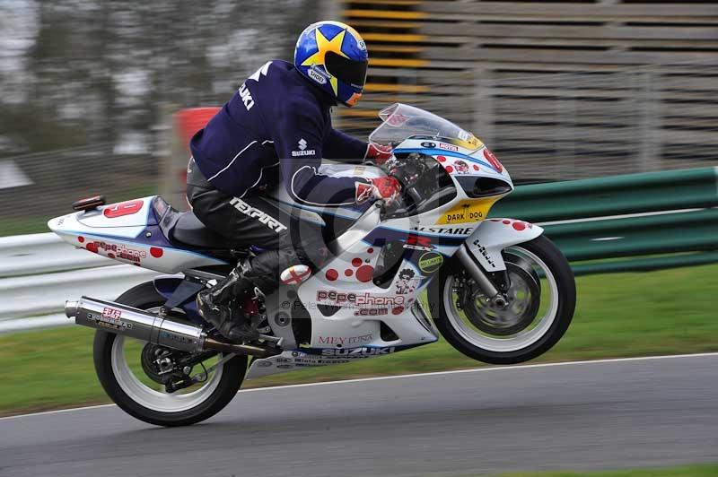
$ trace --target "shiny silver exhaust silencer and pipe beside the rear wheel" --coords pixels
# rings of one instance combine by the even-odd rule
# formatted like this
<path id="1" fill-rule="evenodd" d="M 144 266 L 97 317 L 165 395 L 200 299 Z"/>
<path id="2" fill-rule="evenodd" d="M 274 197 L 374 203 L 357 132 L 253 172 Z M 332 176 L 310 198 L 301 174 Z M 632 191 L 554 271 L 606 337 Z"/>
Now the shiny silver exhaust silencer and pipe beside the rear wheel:
<path id="1" fill-rule="evenodd" d="M 207 336 L 197 325 L 180 323 L 142 309 L 101 299 L 83 297 L 77 301 L 66 301 L 65 314 L 68 318 L 74 317 L 74 323 L 77 325 L 191 353 L 222 351 L 268 358 L 281 352 L 268 347 L 221 342 Z"/>

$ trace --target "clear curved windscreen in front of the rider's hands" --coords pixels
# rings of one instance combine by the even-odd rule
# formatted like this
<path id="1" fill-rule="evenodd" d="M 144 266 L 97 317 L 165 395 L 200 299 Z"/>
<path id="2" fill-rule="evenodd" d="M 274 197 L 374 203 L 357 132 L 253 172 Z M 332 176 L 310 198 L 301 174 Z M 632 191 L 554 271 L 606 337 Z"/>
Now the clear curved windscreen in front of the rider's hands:
<path id="1" fill-rule="evenodd" d="M 474 134 L 464 131 L 443 117 L 414 106 L 395 103 L 389 108 L 381 109 L 379 117 L 381 126 L 369 134 L 372 143 L 396 145 L 409 136 L 426 135 L 450 139 L 471 150 L 481 145 Z"/>

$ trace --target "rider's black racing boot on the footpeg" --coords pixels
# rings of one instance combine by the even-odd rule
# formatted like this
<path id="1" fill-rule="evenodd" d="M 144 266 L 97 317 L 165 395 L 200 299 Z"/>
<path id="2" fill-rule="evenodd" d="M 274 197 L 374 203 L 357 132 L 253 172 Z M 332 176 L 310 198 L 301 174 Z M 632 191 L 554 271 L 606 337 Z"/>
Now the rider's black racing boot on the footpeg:
<path id="1" fill-rule="evenodd" d="M 237 265 L 226 278 L 197 293 L 197 311 L 225 338 L 234 343 L 256 341 L 256 320 L 246 317 L 241 304 L 251 300 L 254 285 L 245 276 L 249 262 Z"/>

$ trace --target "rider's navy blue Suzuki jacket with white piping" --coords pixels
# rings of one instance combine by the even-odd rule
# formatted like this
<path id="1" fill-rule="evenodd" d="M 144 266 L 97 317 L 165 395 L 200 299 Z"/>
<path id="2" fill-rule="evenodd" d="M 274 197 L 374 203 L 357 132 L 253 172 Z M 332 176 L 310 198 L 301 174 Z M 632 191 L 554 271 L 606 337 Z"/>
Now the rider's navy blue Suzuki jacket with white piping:
<path id="1" fill-rule="evenodd" d="M 210 184 L 239 198 L 258 195 L 281 171 L 299 204 L 353 204 L 366 179 L 318 173 L 322 158 L 360 161 L 367 151 L 367 143 L 331 126 L 334 105 L 292 64 L 267 62 L 192 138 L 197 168 Z"/>

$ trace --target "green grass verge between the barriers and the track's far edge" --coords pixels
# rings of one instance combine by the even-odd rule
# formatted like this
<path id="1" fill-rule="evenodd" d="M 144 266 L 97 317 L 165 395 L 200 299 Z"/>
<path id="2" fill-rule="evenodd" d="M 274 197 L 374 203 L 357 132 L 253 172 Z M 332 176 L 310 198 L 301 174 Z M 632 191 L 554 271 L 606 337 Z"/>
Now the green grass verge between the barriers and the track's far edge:
<path id="1" fill-rule="evenodd" d="M 577 279 L 564 339 L 533 362 L 718 351 L 718 265 Z M 92 365 L 92 330 L 80 326 L 0 336 L 0 415 L 106 403 Z M 443 341 L 326 368 L 251 380 L 247 387 L 481 366 Z"/>

